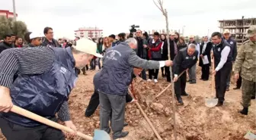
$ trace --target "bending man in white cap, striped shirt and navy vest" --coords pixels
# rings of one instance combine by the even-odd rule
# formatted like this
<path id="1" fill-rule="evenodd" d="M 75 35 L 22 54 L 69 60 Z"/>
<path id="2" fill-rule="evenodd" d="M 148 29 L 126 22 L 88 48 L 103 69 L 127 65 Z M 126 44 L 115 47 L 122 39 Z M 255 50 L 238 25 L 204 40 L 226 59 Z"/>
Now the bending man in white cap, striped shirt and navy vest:
<path id="1" fill-rule="evenodd" d="M 71 129 L 67 100 L 81 68 L 96 54 L 97 46 L 80 39 L 71 48 L 12 48 L 0 54 L 0 128 L 8 140 L 65 140 L 60 130 L 9 112 L 13 105 L 56 121 Z M 14 79 L 14 74 L 18 78 Z M 68 115 L 66 115 L 68 114 Z"/>

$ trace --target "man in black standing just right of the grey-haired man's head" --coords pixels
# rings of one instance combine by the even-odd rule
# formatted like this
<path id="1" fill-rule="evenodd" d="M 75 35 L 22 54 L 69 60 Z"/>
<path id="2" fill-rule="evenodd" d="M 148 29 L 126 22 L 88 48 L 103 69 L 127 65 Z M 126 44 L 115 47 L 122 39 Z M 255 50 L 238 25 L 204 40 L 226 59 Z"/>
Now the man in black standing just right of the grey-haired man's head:
<path id="1" fill-rule="evenodd" d="M 147 46 L 146 39 L 143 39 L 141 30 L 136 30 L 135 39 L 138 42 L 138 45 L 136 48 L 136 54 L 139 56 L 139 58 L 146 59 L 148 46 Z M 142 76 L 142 79 L 146 80 L 146 70 L 142 70 L 141 76 Z"/>

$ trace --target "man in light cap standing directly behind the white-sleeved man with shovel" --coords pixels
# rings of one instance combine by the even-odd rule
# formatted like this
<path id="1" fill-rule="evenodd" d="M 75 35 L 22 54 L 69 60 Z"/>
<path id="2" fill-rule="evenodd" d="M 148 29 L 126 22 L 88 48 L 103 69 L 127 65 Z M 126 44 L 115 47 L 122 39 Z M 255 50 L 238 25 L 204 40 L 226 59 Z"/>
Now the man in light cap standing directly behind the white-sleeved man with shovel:
<path id="1" fill-rule="evenodd" d="M 236 41 L 235 39 L 232 39 L 231 35 L 230 35 L 230 32 L 229 30 L 225 30 L 223 32 L 223 38 L 229 43 L 229 45 L 231 46 L 231 52 L 232 52 L 232 63 L 235 62 L 235 58 L 236 58 L 236 55 L 237 55 L 237 46 L 236 46 Z M 227 87 L 226 87 L 226 91 L 229 91 L 229 84 L 230 84 L 230 76 L 231 76 L 231 73 L 232 73 L 232 69 L 229 73 L 229 76 L 228 76 L 228 81 L 227 81 Z"/>

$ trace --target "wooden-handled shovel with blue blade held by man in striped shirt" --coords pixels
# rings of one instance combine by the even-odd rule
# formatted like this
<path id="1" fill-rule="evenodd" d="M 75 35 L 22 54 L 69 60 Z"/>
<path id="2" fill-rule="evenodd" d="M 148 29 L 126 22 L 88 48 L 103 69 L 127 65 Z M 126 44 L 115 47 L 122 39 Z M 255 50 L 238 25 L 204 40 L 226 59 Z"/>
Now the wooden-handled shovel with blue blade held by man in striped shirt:
<path id="1" fill-rule="evenodd" d="M 11 108 L 11 112 L 14 112 L 15 114 L 20 114 L 21 116 L 27 117 L 31 120 L 36 120 L 37 122 L 46 124 L 47 126 L 52 126 L 53 128 L 60 129 L 62 131 L 71 132 L 71 133 L 74 132 L 69 127 L 62 126 L 59 123 L 55 123 L 52 120 L 48 120 L 44 117 L 40 117 L 37 114 L 34 114 L 28 110 L 24 110 L 23 108 L 15 105 Z M 110 140 L 110 136 L 107 134 L 107 132 L 104 132 L 103 130 L 98 130 L 98 129 L 94 130 L 93 138 L 89 135 L 83 134 L 82 132 L 77 132 L 77 135 L 80 136 L 81 138 L 85 138 L 86 140 Z"/>

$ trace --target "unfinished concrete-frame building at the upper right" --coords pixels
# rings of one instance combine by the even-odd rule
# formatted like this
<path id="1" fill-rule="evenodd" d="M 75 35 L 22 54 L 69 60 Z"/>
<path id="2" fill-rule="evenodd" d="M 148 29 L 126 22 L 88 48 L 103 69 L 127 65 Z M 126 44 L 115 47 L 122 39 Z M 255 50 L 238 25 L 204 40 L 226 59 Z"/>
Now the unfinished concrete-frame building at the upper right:
<path id="1" fill-rule="evenodd" d="M 252 25 L 256 25 L 256 18 L 245 19 L 242 17 L 242 19 L 235 20 L 219 20 L 220 32 L 223 33 L 224 30 L 229 30 L 238 44 L 245 42 L 245 35 Z"/>

